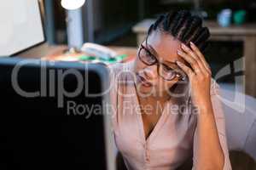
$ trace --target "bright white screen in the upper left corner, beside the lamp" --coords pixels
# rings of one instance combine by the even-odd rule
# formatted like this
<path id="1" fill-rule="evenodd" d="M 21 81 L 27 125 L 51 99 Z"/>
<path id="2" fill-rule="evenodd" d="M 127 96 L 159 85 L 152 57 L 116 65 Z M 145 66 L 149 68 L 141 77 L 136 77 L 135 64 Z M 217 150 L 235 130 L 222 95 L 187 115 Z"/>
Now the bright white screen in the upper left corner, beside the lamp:
<path id="1" fill-rule="evenodd" d="M 0 56 L 17 54 L 44 42 L 38 0 L 1 1 L 0 37 Z"/>

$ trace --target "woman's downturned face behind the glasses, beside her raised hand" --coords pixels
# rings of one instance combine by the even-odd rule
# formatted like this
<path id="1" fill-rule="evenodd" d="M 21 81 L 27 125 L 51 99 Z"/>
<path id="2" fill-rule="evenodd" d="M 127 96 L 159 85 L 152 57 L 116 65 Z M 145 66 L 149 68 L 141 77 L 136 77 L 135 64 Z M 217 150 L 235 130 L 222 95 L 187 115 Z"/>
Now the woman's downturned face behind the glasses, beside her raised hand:
<path id="1" fill-rule="evenodd" d="M 161 64 L 167 66 L 165 68 L 170 67 L 175 71 L 183 73 L 175 62 L 176 60 L 179 60 L 184 63 L 184 60 L 177 55 L 177 49 L 181 49 L 181 42 L 179 42 L 177 39 L 174 39 L 174 37 L 171 35 L 162 33 L 160 31 L 153 31 L 148 36 L 147 42 L 144 41 L 142 44 L 143 47 L 146 48 L 144 51 L 148 51 L 147 54 L 149 55 L 154 55 L 154 57 Z M 159 72 L 162 71 L 162 69 L 158 71 L 157 64 L 146 65 L 139 57 L 139 49 L 137 51 L 134 71 L 136 74 L 137 89 L 141 94 L 161 97 L 166 95 L 169 88 L 179 81 L 178 77 L 174 77 L 170 81 L 166 81 L 160 77 Z"/>

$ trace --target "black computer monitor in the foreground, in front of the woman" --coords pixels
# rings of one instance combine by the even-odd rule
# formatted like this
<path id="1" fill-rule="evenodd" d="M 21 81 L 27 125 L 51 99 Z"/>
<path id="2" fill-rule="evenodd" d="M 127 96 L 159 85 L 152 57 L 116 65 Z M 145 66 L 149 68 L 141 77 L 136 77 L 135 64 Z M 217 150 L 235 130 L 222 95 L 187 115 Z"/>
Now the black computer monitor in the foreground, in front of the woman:
<path id="1" fill-rule="evenodd" d="M 106 66 L 3 58 L 0 72 L 1 170 L 115 169 Z"/>

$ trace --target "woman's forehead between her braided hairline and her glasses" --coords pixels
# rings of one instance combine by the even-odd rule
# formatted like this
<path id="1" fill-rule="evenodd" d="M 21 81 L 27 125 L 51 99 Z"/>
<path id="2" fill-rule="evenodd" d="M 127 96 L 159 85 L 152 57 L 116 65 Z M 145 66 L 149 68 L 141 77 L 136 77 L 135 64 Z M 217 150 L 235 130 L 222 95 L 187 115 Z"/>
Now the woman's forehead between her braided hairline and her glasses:
<path id="1" fill-rule="evenodd" d="M 153 31 L 148 36 L 148 45 L 154 48 L 154 51 L 161 59 L 172 61 L 180 60 L 181 57 L 177 55 L 177 49 L 181 49 L 181 42 L 174 39 L 172 35 L 162 33 L 160 31 Z"/>

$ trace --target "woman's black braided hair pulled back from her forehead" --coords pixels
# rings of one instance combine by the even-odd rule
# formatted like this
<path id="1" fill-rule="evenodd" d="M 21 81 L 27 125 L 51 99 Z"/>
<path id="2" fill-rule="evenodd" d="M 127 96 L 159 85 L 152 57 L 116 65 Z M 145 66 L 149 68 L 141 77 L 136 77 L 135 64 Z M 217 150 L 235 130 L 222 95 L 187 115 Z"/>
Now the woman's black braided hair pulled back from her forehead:
<path id="1" fill-rule="evenodd" d="M 204 53 L 207 48 L 207 39 L 210 31 L 202 26 L 202 19 L 192 15 L 188 10 L 178 10 L 167 14 L 161 14 L 159 18 L 148 29 L 148 35 L 152 31 L 160 30 L 189 46 L 189 42 L 195 45 Z M 189 46 L 190 47 L 190 46 Z"/>

